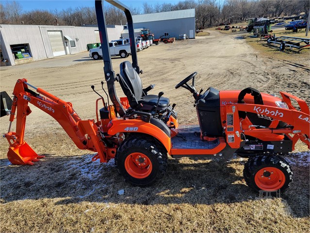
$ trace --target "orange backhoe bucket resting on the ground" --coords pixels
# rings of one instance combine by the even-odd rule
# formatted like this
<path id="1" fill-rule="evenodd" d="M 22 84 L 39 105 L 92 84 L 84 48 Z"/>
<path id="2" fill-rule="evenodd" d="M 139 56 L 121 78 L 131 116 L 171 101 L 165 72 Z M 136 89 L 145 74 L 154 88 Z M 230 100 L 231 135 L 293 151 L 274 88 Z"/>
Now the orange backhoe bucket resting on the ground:
<path id="1" fill-rule="evenodd" d="M 8 151 L 8 159 L 12 164 L 33 165 L 33 162 L 39 161 L 39 159 L 44 157 L 37 155 L 26 142 L 16 147 L 10 146 Z"/>

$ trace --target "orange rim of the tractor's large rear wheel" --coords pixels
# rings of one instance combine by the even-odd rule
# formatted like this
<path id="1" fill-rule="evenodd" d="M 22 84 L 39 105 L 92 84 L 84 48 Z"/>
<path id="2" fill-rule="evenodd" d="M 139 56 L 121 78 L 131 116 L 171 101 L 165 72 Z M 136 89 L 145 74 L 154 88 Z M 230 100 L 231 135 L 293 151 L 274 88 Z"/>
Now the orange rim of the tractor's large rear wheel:
<path id="1" fill-rule="evenodd" d="M 143 179 L 152 172 L 152 162 L 142 153 L 131 153 L 125 160 L 125 169 L 131 177 Z"/>

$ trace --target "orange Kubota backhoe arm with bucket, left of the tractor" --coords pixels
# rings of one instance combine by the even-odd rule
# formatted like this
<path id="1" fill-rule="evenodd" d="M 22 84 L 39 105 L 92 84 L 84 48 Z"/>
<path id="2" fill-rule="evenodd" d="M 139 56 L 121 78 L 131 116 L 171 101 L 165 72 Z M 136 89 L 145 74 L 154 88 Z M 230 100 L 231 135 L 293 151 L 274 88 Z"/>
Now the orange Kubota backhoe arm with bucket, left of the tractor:
<path id="1" fill-rule="evenodd" d="M 34 88 L 39 94 L 29 90 L 28 86 Z M 42 158 L 24 141 L 26 117 L 31 113 L 29 103 L 53 117 L 64 128 L 78 148 L 98 151 L 100 161 L 106 161 L 105 147 L 98 139 L 97 125 L 91 120 L 82 121 L 72 108 L 71 103 L 65 102 L 43 89 L 29 85 L 26 79 L 17 80 L 13 94 L 14 100 L 10 115 L 9 132 L 4 135 L 10 144 L 8 159 L 13 164 L 32 165 L 33 161 Z M 16 132 L 12 132 L 10 130 L 15 114 Z"/>

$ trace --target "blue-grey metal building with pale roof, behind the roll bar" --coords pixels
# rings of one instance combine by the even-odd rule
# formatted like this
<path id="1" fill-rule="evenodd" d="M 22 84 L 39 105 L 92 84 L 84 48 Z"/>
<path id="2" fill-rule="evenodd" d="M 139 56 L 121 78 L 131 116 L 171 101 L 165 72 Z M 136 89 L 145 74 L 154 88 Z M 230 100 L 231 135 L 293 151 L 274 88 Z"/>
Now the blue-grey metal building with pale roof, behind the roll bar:
<path id="1" fill-rule="evenodd" d="M 163 36 L 164 33 L 176 38 L 179 38 L 180 34 L 195 38 L 195 9 L 136 15 L 132 16 L 132 20 L 134 28 L 147 28 L 155 38 Z M 122 36 L 127 38 L 128 31 L 124 30 Z"/>

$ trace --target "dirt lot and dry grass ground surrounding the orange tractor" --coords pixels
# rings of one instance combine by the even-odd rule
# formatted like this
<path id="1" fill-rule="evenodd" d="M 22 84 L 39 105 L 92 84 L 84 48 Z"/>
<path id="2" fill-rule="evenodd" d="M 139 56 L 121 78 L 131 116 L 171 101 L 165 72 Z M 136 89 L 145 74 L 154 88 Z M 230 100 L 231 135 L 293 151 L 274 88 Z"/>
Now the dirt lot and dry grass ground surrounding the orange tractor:
<path id="1" fill-rule="evenodd" d="M 154 45 L 138 53 L 144 85 L 156 84 L 151 93 L 164 91 L 164 96 L 177 104 L 180 124 L 197 124 L 190 92 L 174 88 L 195 71 L 197 90 L 253 87 L 278 96 L 283 90 L 310 103 L 309 52 L 291 54 L 292 62 L 274 59 L 251 47 L 241 33 L 208 32 L 209 36 Z M 88 53 L 80 55 L 75 64 L 65 67 L 51 66 L 49 60 L 1 67 L 1 91 L 12 93 L 16 80 L 26 78 L 33 86 L 71 102 L 82 119 L 94 119 L 98 96 L 90 86 L 100 90 L 103 62 L 88 58 Z M 112 61 L 118 73 L 124 59 Z M 120 87 L 117 93 L 124 96 Z M 25 140 L 46 157 L 33 166 L 11 165 L 6 159 L 8 144 L 1 139 L 0 232 L 310 230 L 309 152 L 288 157 L 294 182 L 281 198 L 258 198 L 249 190 L 242 177 L 245 161 L 240 158 L 169 159 L 168 171 L 160 182 L 139 188 L 124 182 L 113 160 L 108 164 L 91 162 L 92 155 L 77 149 L 55 120 L 30 108 L 33 112 L 27 117 Z M 2 117 L 2 134 L 7 127 L 8 118 Z M 306 150 L 298 144 L 295 152 Z M 121 189 L 125 194 L 119 196 Z"/>

